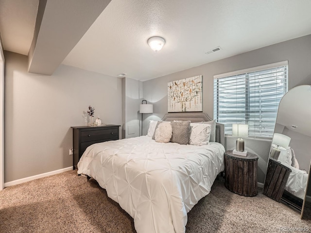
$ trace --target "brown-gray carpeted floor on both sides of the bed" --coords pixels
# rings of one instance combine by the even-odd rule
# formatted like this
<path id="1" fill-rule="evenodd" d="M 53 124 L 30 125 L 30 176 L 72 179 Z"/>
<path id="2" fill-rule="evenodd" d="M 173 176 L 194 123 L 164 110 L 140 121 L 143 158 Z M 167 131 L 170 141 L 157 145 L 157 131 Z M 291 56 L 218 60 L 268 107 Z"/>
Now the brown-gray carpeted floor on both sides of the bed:
<path id="1" fill-rule="evenodd" d="M 218 179 L 188 214 L 187 233 L 311 231 L 309 219 L 262 195 L 231 193 Z M 310 211 L 310 208 L 307 209 Z M 296 229 L 299 230 L 299 229 Z M 0 233 L 135 233 L 134 222 L 95 180 L 68 171 L 0 191 Z"/>

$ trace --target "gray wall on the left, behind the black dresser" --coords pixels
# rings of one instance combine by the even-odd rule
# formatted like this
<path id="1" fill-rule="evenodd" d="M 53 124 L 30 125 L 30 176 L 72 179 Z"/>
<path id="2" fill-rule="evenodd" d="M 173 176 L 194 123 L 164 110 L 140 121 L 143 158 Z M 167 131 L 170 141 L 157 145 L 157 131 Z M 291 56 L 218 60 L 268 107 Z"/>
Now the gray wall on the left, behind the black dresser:
<path id="1" fill-rule="evenodd" d="M 52 76 L 28 73 L 27 56 L 4 55 L 4 182 L 72 166 L 70 127 L 86 125 L 88 105 L 121 125 L 121 79 L 64 65 Z"/>

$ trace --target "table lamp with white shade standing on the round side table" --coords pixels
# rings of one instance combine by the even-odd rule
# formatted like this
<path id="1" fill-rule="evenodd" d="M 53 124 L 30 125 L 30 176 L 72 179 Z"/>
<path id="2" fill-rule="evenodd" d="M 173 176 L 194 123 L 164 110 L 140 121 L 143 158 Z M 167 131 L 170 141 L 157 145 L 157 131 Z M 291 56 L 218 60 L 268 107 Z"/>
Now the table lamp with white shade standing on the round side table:
<path id="1" fill-rule="evenodd" d="M 248 125 L 232 124 L 232 136 L 239 137 L 236 142 L 236 149 L 232 153 L 246 156 L 247 150 L 244 150 L 244 140 L 242 137 L 248 137 Z"/>

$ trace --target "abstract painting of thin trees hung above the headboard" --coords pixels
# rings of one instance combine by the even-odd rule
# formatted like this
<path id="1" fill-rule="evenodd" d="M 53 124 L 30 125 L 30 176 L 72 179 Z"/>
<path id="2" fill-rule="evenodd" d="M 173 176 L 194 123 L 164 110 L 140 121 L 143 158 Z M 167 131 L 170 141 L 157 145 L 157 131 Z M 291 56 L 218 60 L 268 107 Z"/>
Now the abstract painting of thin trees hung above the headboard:
<path id="1" fill-rule="evenodd" d="M 168 83 L 168 112 L 202 112 L 202 75 Z"/>

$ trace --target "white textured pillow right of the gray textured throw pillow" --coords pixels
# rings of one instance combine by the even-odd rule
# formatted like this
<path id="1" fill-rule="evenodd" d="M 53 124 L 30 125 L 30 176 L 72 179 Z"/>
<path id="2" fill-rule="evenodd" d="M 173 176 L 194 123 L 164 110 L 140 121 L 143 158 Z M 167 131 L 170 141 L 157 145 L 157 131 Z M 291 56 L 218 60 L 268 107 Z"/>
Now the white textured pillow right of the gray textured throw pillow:
<path id="1" fill-rule="evenodd" d="M 189 144 L 191 145 L 207 145 L 210 138 L 211 125 L 190 123 Z"/>

